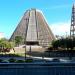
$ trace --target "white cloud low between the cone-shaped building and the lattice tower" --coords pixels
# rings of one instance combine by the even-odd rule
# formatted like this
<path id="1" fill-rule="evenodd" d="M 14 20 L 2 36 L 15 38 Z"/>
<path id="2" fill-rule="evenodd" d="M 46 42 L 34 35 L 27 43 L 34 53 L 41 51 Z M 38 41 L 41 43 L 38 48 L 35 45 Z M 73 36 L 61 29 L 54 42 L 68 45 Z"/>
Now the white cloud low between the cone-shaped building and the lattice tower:
<path id="1" fill-rule="evenodd" d="M 50 28 L 55 35 L 65 36 L 70 34 L 70 22 L 50 24 Z"/>

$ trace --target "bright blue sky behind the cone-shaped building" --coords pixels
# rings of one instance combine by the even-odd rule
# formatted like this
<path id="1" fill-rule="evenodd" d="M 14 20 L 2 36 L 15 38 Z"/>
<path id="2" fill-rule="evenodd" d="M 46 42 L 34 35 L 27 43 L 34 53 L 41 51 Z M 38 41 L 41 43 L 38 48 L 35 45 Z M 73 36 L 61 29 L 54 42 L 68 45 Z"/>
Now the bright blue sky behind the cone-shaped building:
<path id="1" fill-rule="evenodd" d="M 55 35 L 69 34 L 72 5 L 75 0 L 0 0 L 0 32 L 10 38 L 24 12 L 42 10 Z"/>

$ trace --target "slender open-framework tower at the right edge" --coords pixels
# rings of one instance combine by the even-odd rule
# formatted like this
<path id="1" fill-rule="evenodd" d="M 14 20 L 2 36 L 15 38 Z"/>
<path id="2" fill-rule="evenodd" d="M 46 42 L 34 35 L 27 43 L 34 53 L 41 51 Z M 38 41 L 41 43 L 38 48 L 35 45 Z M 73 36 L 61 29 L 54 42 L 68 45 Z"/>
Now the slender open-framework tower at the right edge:
<path id="1" fill-rule="evenodd" d="M 72 39 L 75 38 L 75 4 L 73 4 L 73 7 L 72 7 L 70 37 Z"/>

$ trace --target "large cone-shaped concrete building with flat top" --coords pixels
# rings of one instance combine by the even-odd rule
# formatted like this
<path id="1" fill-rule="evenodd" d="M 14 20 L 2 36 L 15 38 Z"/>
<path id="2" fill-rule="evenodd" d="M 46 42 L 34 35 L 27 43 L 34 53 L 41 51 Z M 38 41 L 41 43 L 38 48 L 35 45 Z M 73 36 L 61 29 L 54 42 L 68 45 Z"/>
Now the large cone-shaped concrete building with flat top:
<path id="1" fill-rule="evenodd" d="M 27 45 L 49 46 L 55 40 L 42 12 L 36 9 L 25 12 L 10 40 L 14 40 L 16 36 L 22 36 L 23 43 L 25 41 Z"/>

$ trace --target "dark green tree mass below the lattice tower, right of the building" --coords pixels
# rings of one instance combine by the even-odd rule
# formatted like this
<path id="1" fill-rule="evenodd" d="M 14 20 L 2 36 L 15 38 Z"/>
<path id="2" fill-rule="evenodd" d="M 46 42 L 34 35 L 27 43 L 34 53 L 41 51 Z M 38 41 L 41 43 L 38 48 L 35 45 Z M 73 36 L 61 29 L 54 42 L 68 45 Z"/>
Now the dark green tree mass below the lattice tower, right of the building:
<path id="1" fill-rule="evenodd" d="M 58 49 L 58 47 L 61 47 L 62 49 L 73 49 L 73 47 L 75 47 L 75 39 L 69 39 L 69 38 L 65 38 L 65 39 L 59 39 L 56 41 L 52 42 L 52 46 L 55 49 Z"/>

